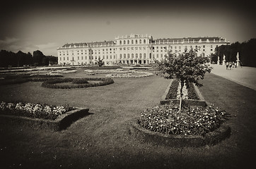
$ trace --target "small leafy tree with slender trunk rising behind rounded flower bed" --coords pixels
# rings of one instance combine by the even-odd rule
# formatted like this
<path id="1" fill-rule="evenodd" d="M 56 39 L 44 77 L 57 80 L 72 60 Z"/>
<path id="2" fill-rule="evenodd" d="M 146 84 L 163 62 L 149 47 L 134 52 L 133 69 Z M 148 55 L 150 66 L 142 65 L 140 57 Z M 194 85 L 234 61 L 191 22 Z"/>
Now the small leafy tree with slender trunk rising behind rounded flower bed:
<path id="1" fill-rule="evenodd" d="M 180 111 L 182 106 L 182 89 L 184 84 L 188 85 L 193 82 L 199 87 L 202 87 L 198 81 L 204 79 L 206 72 L 211 72 L 209 67 L 209 58 L 197 56 L 197 52 L 191 49 L 182 54 L 175 55 L 168 53 L 165 59 L 156 61 L 156 71 L 166 79 L 177 79 L 181 84 L 180 89 Z"/>

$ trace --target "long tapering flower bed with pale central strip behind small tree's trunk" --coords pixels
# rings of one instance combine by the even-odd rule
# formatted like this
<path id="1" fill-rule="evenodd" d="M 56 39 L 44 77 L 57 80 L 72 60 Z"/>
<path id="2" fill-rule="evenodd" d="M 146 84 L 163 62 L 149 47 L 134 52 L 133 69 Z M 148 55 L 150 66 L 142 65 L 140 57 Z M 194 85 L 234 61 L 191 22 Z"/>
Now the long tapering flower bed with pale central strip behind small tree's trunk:
<path id="1" fill-rule="evenodd" d="M 170 84 L 165 90 L 165 93 L 161 97 L 161 105 L 170 104 L 170 102 L 173 102 L 174 104 L 179 104 L 180 98 L 178 92 L 180 92 L 180 89 L 178 89 L 178 86 L 178 80 L 171 80 Z M 190 106 L 207 106 L 204 97 L 202 96 L 196 85 L 190 84 L 190 87 L 188 87 L 187 89 L 183 87 L 183 89 L 185 90 L 183 90 L 183 94 L 185 93 L 185 96 L 182 98 L 182 104 L 187 104 Z"/>

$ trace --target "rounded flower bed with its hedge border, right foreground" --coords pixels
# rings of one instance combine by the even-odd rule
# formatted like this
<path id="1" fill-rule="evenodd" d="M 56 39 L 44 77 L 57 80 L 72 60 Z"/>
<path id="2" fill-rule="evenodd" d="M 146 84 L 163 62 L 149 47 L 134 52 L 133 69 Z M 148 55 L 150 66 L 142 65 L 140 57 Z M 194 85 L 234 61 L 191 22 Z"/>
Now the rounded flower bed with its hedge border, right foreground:
<path id="1" fill-rule="evenodd" d="M 179 111 L 175 104 L 147 109 L 131 122 L 131 133 L 140 142 L 172 147 L 214 145 L 230 137 L 231 128 L 224 122 L 225 111 L 214 106 L 186 106 Z"/>

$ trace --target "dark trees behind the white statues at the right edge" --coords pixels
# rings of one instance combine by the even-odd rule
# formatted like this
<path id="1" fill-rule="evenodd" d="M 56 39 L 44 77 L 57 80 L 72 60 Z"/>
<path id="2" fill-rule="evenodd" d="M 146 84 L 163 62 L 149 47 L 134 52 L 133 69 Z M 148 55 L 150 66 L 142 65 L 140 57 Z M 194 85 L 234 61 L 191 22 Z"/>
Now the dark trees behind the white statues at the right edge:
<path id="1" fill-rule="evenodd" d="M 236 55 L 239 52 L 240 61 L 243 65 L 256 67 L 256 39 L 250 39 L 248 42 L 235 42 L 230 45 L 221 45 L 216 47 L 216 53 L 211 55 L 211 61 L 216 63 L 218 61 L 218 56 L 222 63 L 223 55 L 226 56 L 226 61 L 235 62 Z"/>

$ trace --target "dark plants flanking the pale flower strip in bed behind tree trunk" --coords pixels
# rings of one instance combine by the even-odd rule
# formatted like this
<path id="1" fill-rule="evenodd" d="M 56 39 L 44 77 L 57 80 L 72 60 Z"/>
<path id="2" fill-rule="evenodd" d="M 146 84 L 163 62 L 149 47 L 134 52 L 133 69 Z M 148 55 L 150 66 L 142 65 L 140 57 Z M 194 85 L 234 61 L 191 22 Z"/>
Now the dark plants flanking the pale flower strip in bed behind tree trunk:
<path id="1" fill-rule="evenodd" d="M 170 85 L 169 92 L 166 95 L 165 99 L 177 99 L 178 85 L 179 85 L 179 81 L 174 79 L 172 84 Z M 188 99 L 199 100 L 194 90 L 194 85 L 192 83 L 189 85 L 189 87 L 187 87 L 187 96 L 188 96 Z"/>

